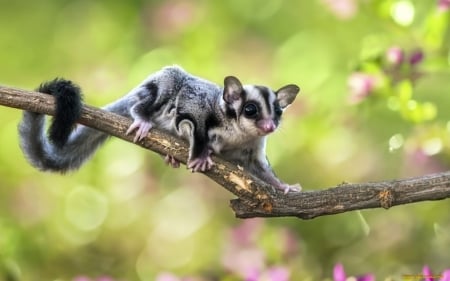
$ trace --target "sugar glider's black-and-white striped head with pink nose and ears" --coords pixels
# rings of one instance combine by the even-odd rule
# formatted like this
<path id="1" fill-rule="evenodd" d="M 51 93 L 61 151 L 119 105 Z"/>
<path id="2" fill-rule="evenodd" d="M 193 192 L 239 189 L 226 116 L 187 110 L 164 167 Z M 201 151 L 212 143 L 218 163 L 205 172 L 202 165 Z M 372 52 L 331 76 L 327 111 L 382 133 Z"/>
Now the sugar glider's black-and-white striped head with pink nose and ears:
<path id="1" fill-rule="evenodd" d="M 253 136 L 265 136 L 275 131 L 283 111 L 295 100 L 300 88 L 287 85 L 277 91 L 265 86 L 242 85 L 234 76 L 224 80 L 223 99 L 226 115 Z"/>

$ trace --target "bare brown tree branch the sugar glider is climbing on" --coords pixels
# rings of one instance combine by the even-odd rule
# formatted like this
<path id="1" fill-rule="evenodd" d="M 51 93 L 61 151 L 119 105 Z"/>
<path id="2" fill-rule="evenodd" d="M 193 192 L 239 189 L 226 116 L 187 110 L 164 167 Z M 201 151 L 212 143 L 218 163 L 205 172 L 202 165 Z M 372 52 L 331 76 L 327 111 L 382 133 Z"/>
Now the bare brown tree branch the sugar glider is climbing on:
<path id="1" fill-rule="evenodd" d="M 3 86 L 0 86 L 0 104 L 42 114 L 54 113 L 52 96 Z M 133 142 L 133 136 L 125 134 L 131 124 L 128 118 L 86 105 L 79 123 Z M 188 157 L 184 141 L 156 129 L 138 145 L 161 155 L 173 155 L 182 163 L 186 163 Z M 204 174 L 238 197 L 231 200 L 231 208 L 239 218 L 295 216 L 312 219 L 450 197 L 450 172 L 375 183 L 343 183 L 325 190 L 283 194 L 242 167 L 218 157 L 213 160 L 216 165 Z"/>

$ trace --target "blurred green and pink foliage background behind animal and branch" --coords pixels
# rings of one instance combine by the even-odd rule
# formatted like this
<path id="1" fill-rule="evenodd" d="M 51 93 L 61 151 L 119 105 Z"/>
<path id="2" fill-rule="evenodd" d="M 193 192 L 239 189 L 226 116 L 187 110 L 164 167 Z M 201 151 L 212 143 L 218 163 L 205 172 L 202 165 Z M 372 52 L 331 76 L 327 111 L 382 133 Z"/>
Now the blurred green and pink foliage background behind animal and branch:
<path id="1" fill-rule="evenodd" d="M 449 169 L 448 1 L 0 5 L 3 85 L 67 77 L 100 106 L 170 64 L 217 83 L 296 83 L 268 144 L 287 182 L 320 189 Z M 20 116 L 0 109 L 1 280 L 331 280 L 338 263 L 402 280 L 450 267 L 447 201 L 241 221 L 215 183 L 119 140 L 76 173 L 39 172 L 19 149 Z"/>

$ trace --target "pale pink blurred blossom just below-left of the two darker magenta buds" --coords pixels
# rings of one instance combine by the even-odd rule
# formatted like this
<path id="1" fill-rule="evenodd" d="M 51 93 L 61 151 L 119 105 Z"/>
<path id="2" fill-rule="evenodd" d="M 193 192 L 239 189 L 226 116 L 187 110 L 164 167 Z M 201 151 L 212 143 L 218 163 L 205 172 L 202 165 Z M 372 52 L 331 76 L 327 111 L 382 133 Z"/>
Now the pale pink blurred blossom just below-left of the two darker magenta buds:
<path id="1" fill-rule="evenodd" d="M 350 103 L 359 103 L 369 96 L 375 88 L 376 78 L 372 75 L 355 72 L 348 78 L 350 88 Z"/>

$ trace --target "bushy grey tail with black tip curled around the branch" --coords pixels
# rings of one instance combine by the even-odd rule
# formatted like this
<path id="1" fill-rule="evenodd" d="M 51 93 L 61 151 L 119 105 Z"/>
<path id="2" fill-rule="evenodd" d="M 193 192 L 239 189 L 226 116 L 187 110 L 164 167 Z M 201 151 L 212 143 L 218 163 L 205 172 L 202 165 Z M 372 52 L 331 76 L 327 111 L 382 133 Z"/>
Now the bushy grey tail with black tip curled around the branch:
<path id="1" fill-rule="evenodd" d="M 25 111 L 19 124 L 20 146 L 29 162 L 43 171 L 64 173 L 79 168 L 108 137 L 85 126 L 80 118 L 80 88 L 71 81 L 55 79 L 40 85 L 38 92 L 55 97 L 56 112 L 45 132 L 45 115 Z"/>

